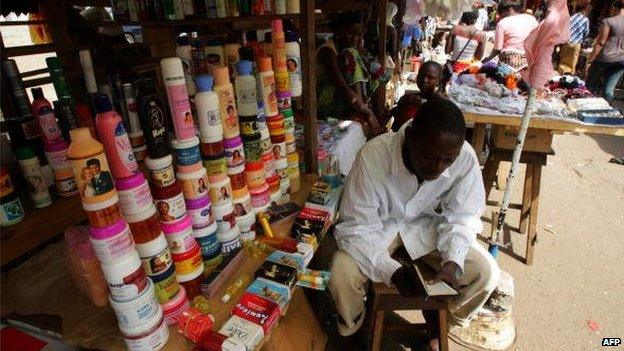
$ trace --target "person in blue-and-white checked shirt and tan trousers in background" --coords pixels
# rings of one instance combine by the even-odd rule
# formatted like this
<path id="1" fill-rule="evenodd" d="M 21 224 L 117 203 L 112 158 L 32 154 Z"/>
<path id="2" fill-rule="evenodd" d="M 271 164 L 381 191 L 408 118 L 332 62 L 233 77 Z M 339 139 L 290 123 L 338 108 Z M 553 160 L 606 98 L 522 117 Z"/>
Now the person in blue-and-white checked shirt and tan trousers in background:
<path id="1" fill-rule="evenodd" d="M 574 7 L 574 15 L 570 17 L 570 42 L 561 46 L 559 53 L 559 73 L 574 73 L 581 53 L 581 44 L 589 35 L 589 19 L 585 12 L 589 3 L 579 2 Z"/>

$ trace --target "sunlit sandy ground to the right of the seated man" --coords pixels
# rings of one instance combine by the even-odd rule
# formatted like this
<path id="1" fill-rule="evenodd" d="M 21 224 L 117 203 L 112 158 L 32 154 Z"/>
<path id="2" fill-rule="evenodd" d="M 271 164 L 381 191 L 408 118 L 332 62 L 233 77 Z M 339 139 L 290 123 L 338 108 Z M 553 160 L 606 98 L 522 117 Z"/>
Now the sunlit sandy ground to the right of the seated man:
<path id="1" fill-rule="evenodd" d="M 533 265 L 505 253 L 498 259 L 515 279 L 511 349 L 597 350 L 603 337 L 624 337 L 624 166 L 607 162 L 624 156 L 624 138 L 557 135 L 554 149 L 542 177 Z M 518 212 L 511 211 L 511 227 Z M 512 232 L 511 239 L 512 251 L 524 257 L 525 236 Z M 600 330 L 591 331 L 588 321 Z"/>

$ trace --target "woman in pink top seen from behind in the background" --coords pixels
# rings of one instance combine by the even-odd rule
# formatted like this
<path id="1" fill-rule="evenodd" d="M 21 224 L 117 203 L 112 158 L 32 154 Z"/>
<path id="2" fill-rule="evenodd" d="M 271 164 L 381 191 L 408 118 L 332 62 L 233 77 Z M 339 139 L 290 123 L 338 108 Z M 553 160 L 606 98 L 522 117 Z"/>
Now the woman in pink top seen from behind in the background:
<path id="1" fill-rule="evenodd" d="M 498 61 L 519 69 L 526 66 L 524 39 L 538 23 L 532 15 L 522 13 L 523 5 L 519 0 L 502 0 L 498 5 L 500 20 L 496 24 L 494 50 L 484 61 L 500 56 Z"/>

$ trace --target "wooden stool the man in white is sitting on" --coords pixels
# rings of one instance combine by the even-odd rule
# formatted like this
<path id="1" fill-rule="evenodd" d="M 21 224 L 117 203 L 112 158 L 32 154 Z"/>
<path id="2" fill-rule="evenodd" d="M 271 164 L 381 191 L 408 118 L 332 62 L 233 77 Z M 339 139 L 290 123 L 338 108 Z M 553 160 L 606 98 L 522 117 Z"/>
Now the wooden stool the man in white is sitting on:
<path id="1" fill-rule="evenodd" d="M 386 311 L 397 310 L 437 310 L 440 317 L 440 351 L 448 351 L 448 325 L 446 318 L 446 300 L 425 299 L 424 297 L 403 297 L 395 287 L 384 283 L 372 283 L 369 288 L 370 303 L 370 331 L 372 332 L 372 351 L 382 350 L 381 337 L 384 329 L 384 315 Z M 410 327 L 426 327 L 426 324 L 412 324 Z"/>

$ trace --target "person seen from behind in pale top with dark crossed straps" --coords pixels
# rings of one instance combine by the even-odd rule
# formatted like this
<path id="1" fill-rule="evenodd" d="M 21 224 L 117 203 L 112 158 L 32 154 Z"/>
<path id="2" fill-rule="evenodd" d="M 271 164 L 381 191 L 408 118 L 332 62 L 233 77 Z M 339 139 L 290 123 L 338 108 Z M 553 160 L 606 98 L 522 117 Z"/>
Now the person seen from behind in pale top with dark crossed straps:
<path id="1" fill-rule="evenodd" d="M 485 34 L 476 28 L 479 11 L 464 12 L 462 21 L 456 25 L 446 40 L 446 53 L 451 54 L 453 72 L 468 68 L 475 59 L 480 60 L 485 50 Z"/>

